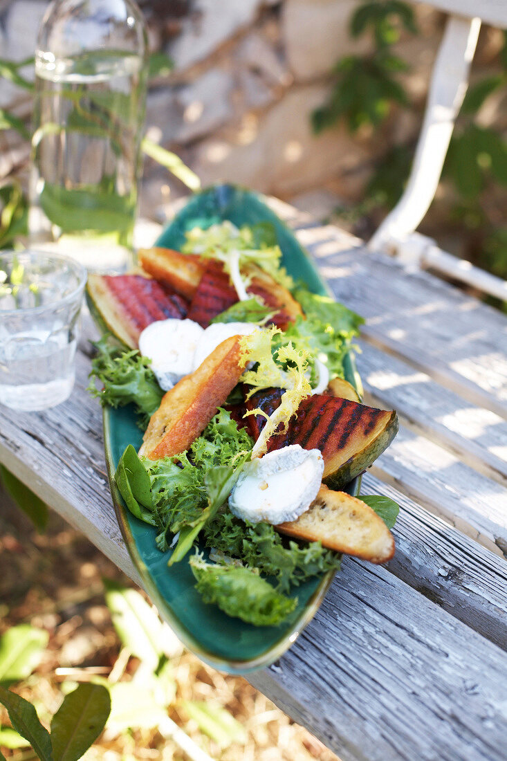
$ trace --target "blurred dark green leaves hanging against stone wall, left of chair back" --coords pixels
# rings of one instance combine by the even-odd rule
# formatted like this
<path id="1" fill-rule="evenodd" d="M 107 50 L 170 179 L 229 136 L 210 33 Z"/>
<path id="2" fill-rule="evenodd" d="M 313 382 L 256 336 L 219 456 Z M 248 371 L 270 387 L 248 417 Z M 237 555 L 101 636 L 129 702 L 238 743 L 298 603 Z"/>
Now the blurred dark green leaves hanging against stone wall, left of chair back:
<path id="1" fill-rule="evenodd" d="M 371 31 L 375 49 L 369 56 L 347 56 L 334 68 L 335 83 L 327 103 L 312 114 L 315 132 L 343 119 L 350 132 L 365 125 L 378 127 L 391 112 L 394 103 L 407 106 L 407 94 L 397 74 L 407 71 L 407 64 L 391 53 L 400 38 L 400 29 L 416 34 L 410 5 L 399 0 L 366 2 L 352 14 L 350 33 L 360 37 Z"/>

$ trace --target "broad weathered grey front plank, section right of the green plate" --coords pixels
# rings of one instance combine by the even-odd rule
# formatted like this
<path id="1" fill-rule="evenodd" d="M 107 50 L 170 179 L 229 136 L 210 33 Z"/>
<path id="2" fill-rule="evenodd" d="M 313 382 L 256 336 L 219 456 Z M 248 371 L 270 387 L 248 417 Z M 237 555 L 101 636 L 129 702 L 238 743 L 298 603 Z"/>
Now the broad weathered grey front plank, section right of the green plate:
<path id="1" fill-rule="evenodd" d="M 500 761 L 507 655 L 390 574 L 347 559 L 283 658 L 250 674 L 342 761 Z"/>

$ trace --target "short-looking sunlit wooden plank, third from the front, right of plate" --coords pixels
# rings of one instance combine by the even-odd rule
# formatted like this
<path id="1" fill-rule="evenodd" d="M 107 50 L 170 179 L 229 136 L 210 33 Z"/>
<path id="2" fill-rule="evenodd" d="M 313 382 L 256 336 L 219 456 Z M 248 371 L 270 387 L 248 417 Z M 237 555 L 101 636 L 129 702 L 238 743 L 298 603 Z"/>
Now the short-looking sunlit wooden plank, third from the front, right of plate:
<path id="1" fill-rule="evenodd" d="M 506 552 L 507 492 L 464 465 L 459 455 L 400 425 L 397 437 L 375 460 L 371 473 L 491 552 L 499 556 Z"/>

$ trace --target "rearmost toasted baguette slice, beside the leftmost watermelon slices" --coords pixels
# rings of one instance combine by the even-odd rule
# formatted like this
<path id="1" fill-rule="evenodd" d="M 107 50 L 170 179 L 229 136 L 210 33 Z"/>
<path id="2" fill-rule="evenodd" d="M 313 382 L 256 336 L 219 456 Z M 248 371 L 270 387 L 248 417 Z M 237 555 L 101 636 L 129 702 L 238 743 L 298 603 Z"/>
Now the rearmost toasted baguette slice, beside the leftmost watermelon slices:
<path id="1" fill-rule="evenodd" d="M 186 298 L 193 297 L 206 269 L 200 256 L 171 248 L 140 249 L 137 257 L 145 272 Z"/>

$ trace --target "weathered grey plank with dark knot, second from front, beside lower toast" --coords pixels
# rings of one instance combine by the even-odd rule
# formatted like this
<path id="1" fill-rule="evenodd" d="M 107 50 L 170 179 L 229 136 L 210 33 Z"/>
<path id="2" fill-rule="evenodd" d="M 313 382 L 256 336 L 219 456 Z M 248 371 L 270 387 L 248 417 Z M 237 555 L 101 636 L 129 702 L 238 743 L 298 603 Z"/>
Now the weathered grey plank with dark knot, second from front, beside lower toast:
<path id="1" fill-rule="evenodd" d="M 495 645 L 507 650 L 507 563 L 371 473 L 363 494 L 400 505 L 387 568 Z"/>

